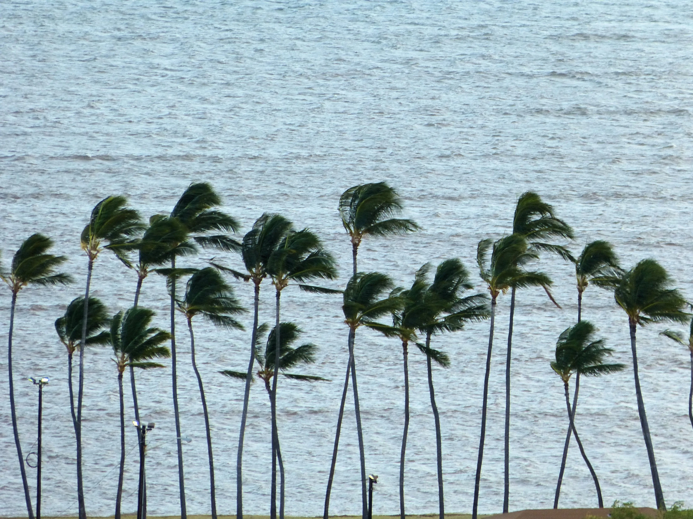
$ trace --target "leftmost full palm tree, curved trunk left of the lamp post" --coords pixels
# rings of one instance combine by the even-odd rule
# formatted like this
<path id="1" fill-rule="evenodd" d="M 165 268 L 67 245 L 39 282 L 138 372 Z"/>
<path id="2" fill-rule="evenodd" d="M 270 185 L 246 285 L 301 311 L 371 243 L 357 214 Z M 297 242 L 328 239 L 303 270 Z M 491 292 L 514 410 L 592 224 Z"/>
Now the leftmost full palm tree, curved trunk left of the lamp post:
<path id="1" fill-rule="evenodd" d="M 17 294 L 21 289 L 29 285 L 55 285 L 67 284 L 72 281 L 71 277 L 63 273 L 55 273 L 55 269 L 65 260 L 64 256 L 49 254 L 49 249 L 53 246 L 53 241 L 39 233 L 33 234 L 22 242 L 12 257 L 10 271 L 0 271 L 0 279 L 3 280 L 12 293 L 12 303 L 10 304 L 10 329 L 8 331 L 7 346 L 7 371 L 10 382 L 10 413 L 12 415 L 12 432 L 15 435 L 15 446 L 17 447 L 17 457 L 19 457 L 19 471 L 21 472 L 21 483 L 24 485 L 24 497 L 26 498 L 26 511 L 29 519 L 33 519 L 34 511 L 31 506 L 29 495 L 29 485 L 26 481 L 26 471 L 24 470 L 24 456 L 21 454 L 21 444 L 19 444 L 19 430 L 17 429 L 17 410 L 15 409 L 15 383 L 12 379 L 12 331 L 15 327 L 15 306 L 17 304 Z"/>

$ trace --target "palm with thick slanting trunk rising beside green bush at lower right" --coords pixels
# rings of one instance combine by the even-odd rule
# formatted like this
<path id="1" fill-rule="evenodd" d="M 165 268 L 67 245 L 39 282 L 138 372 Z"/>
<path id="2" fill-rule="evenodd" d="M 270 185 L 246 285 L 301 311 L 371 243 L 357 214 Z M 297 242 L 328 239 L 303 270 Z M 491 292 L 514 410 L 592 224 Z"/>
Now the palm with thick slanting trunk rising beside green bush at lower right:
<path id="1" fill-rule="evenodd" d="M 670 288 L 672 278 L 665 268 L 656 260 L 642 260 L 631 270 L 613 278 L 611 287 L 614 291 L 614 299 L 628 316 L 628 325 L 631 334 L 631 351 L 633 353 L 633 376 L 635 378 L 635 395 L 638 399 L 638 415 L 642 436 L 647 448 L 652 484 L 657 508 L 666 510 L 662 485 L 659 482 L 657 462 L 654 458 L 654 448 L 650 437 L 645 405 L 640 390 L 640 376 L 638 374 L 638 352 L 635 344 L 635 330 L 638 325 L 644 326 L 650 322 L 686 322 L 690 314 L 682 309 L 686 302 L 681 293 Z"/>

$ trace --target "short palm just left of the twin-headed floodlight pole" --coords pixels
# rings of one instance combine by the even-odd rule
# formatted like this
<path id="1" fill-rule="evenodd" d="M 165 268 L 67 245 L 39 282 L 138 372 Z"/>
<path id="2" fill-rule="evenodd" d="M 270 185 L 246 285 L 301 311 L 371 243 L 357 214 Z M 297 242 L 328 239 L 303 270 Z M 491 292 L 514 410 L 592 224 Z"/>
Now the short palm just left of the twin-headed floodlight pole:
<path id="1" fill-rule="evenodd" d="M 148 370 L 164 365 L 150 362 L 152 358 L 168 358 L 170 351 L 161 346 L 170 338 L 168 331 L 150 327 L 154 312 L 148 308 L 132 307 L 123 313 L 119 311 L 111 319 L 108 343 L 113 347 L 114 363 L 118 370 L 118 393 L 121 403 L 121 464 L 116 493 L 115 519 L 121 518 L 121 498 L 123 495 L 123 473 L 125 471 L 125 405 L 123 402 L 123 372 L 125 367 L 139 367 Z M 139 420 L 138 420 L 139 422 Z"/>

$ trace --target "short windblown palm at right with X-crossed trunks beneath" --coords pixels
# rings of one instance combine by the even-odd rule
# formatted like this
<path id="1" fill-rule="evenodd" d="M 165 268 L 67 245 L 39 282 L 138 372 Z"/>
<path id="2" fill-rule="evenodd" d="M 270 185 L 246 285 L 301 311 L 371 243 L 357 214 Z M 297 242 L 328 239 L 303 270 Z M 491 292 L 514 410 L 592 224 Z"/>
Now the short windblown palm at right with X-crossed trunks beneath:
<path id="1" fill-rule="evenodd" d="M 559 471 L 559 480 L 556 483 L 556 496 L 554 498 L 554 509 L 559 507 L 559 495 L 561 494 L 561 482 L 563 482 L 563 472 L 565 471 L 565 460 L 568 457 L 568 444 L 570 443 L 570 435 L 575 435 L 577 439 L 577 430 L 575 429 L 575 408 L 577 407 L 577 394 L 579 390 L 579 379 L 577 376 L 583 374 L 585 376 L 599 376 L 608 373 L 622 371 L 623 364 L 605 364 L 604 357 L 611 355 L 613 349 L 604 346 L 604 339 L 593 340 L 595 333 L 594 325 L 589 321 L 580 321 L 577 325 L 566 328 L 559 336 L 556 342 L 556 361 L 551 363 L 551 368 L 561 377 L 563 388 L 565 390 L 565 406 L 568 408 L 568 433 L 565 437 L 565 446 L 563 448 L 563 458 L 561 459 L 561 471 Z M 575 374 L 575 396 L 572 401 L 572 410 L 570 408 L 570 394 L 568 393 L 568 383 L 570 377 Z M 579 441 L 579 440 L 578 440 Z M 597 484 L 597 496 L 599 498 L 599 508 L 604 508 L 602 502 L 602 492 L 599 489 L 599 481 L 594 475 L 594 469 L 590 465 L 590 472 L 595 477 Z"/>

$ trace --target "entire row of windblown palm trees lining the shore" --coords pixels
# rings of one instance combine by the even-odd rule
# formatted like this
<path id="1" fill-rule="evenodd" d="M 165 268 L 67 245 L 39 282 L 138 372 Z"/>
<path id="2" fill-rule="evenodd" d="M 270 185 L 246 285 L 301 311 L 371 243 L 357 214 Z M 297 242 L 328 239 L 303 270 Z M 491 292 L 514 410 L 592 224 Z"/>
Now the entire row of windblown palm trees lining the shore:
<path id="1" fill-rule="evenodd" d="M 77 494 L 80 519 L 86 518 L 84 491 L 82 484 L 82 399 L 84 385 L 84 352 L 87 345 L 110 345 L 114 352 L 114 362 L 119 381 L 121 406 L 121 463 L 119 484 L 116 494 L 115 515 L 120 518 L 123 473 L 125 461 L 125 423 L 123 374 L 129 370 L 130 385 L 135 418 L 139 421 L 137 388 L 134 368 L 150 369 L 163 367 L 156 360 L 168 358 L 172 361 L 172 392 L 177 435 L 177 457 L 179 473 L 179 500 L 181 516 L 186 518 L 184 487 L 184 460 L 182 437 L 177 400 L 177 356 L 175 336 L 175 312 L 186 318 L 191 343 L 191 364 L 200 390 L 202 410 L 207 432 L 207 449 L 210 475 L 210 502 L 213 519 L 217 517 L 213 466 L 213 442 L 204 385 L 195 363 L 195 334 L 193 320 L 209 320 L 218 327 L 243 329 L 237 317 L 246 311 L 236 296 L 234 289 L 223 275 L 228 274 L 254 286 L 253 325 L 249 347 L 249 362 L 245 372 L 223 370 L 220 373 L 235 379 L 245 379 L 243 412 L 240 420 L 238 457 L 236 462 L 238 519 L 243 518 L 243 442 L 249 404 L 249 390 L 254 374 L 264 381 L 270 399 L 272 432 L 272 484 L 270 516 L 277 517 L 277 491 L 279 491 L 279 517 L 284 517 L 284 495 L 286 478 L 281 458 L 279 430 L 277 429 L 277 384 L 280 372 L 290 379 L 302 381 L 323 381 L 319 376 L 287 373 L 292 367 L 311 363 L 315 358 L 315 345 L 306 344 L 292 347 L 299 338 L 301 329 L 292 322 L 281 321 L 281 294 L 290 286 L 297 286 L 310 293 L 341 293 L 344 323 L 347 325 L 347 344 L 349 358 L 342 399 L 337 415 L 337 427 L 331 468 L 328 475 L 324 502 L 324 519 L 328 518 L 329 502 L 340 432 L 344 418 L 344 408 L 349 392 L 353 393 L 356 429 L 360 455 L 360 475 L 362 489 L 363 516 L 367 515 L 367 475 L 365 448 L 362 435 L 362 419 L 358 399 L 356 376 L 356 331 L 365 327 L 398 340 L 402 345 L 404 372 L 404 430 L 401 442 L 400 460 L 400 514 L 405 519 L 405 451 L 409 426 L 409 372 L 407 356 L 410 345 L 426 355 L 428 386 L 432 413 L 435 419 L 437 444 L 437 475 L 439 489 L 439 516 L 444 519 L 444 482 L 442 472 L 442 442 L 439 414 L 435 401 L 435 385 L 432 378 L 432 363 L 450 365 L 445 352 L 435 349 L 432 340 L 439 334 L 460 331 L 468 322 L 489 318 L 489 347 L 486 356 L 484 390 L 482 398 L 482 420 L 480 444 L 475 473 L 473 499 L 473 518 L 477 517 L 480 491 L 480 477 L 484 454 L 486 433 L 486 414 L 490 384 L 491 355 L 495 327 L 495 309 L 500 295 L 510 292 L 509 334 L 507 338 L 507 358 L 505 371 L 505 449 L 504 449 L 504 502 L 503 511 L 509 510 L 509 429 L 510 429 L 510 381 L 511 347 L 514 326 L 516 295 L 518 290 L 541 287 L 553 304 L 558 304 L 550 291 L 552 280 L 542 271 L 532 270 L 542 253 L 557 254 L 575 266 L 577 283 L 578 315 L 577 324 L 568 327 L 556 343 L 556 361 L 551 365 L 563 382 L 565 401 L 568 410 L 568 432 L 563 449 L 561 469 L 556 484 L 554 507 L 558 507 L 559 494 L 568 446 L 575 437 L 581 455 L 597 489 L 599 507 L 603 506 L 597 475 L 586 456 L 574 423 L 580 376 L 595 376 L 616 372 L 624 368 L 620 364 L 604 362 L 612 350 L 603 340 L 595 339 L 595 326 L 581 320 L 583 294 L 590 284 L 610 289 L 615 302 L 624 309 L 629 318 L 631 349 L 635 375 L 635 390 L 638 399 L 638 412 L 642 425 L 645 445 L 651 466 L 653 487 L 658 508 L 664 509 L 665 502 L 659 483 L 656 461 L 651 444 L 647 415 L 645 414 L 636 352 L 636 327 L 649 322 L 685 322 L 690 314 L 684 311 L 686 302 L 676 289 L 663 267 L 655 260 L 642 260 L 629 271 L 622 269 L 611 246 L 603 241 L 588 244 L 581 254 L 574 257 L 565 246 L 552 243 L 554 239 L 572 239 L 572 228 L 556 217 L 554 208 L 541 200 L 534 192 L 522 194 L 516 205 L 514 220 L 509 233 L 500 239 L 483 239 L 477 246 L 477 267 L 486 284 L 486 293 L 473 293 L 473 282 L 466 267 L 457 258 L 444 260 L 432 273 L 433 267 L 424 264 L 416 271 L 410 287 L 394 286 L 392 279 L 383 273 L 362 273 L 358 271 L 358 249 L 364 239 L 402 235 L 419 230 L 410 219 L 398 218 L 403 210 L 401 198 L 396 190 L 386 183 L 367 183 L 345 191 L 340 197 L 339 213 L 344 229 L 352 245 L 353 275 L 344 290 L 327 289 L 309 284 L 315 280 L 333 280 L 337 277 L 334 257 L 328 253 L 321 240 L 307 228 L 297 229 L 288 219 L 277 214 L 265 213 L 256 220 L 251 230 L 237 240 L 230 234 L 237 233 L 236 219 L 218 209 L 221 201 L 208 183 L 193 183 L 182 194 L 168 215 L 154 215 L 148 224 L 141 220 L 137 211 L 128 207 L 124 197 L 107 197 L 100 201 L 91 212 L 89 223 L 82 230 L 80 244 L 87 255 L 87 280 L 85 295 L 74 299 L 61 318 L 55 322 L 60 340 L 68 353 L 68 380 L 71 416 L 76 437 L 77 453 Z M 67 284 L 71 278 L 58 273 L 65 257 L 51 255 L 49 238 L 35 234 L 21 244 L 12 259 L 10 270 L 2 274 L 2 279 L 12 292 L 10 307 L 10 329 L 8 344 L 8 371 L 10 376 L 10 408 L 12 426 L 19 457 L 20 471 L 28 515 L 33 518 L 29 499 L 28 483 L 24 471 L 23 456 L 19 444 L 19 432 L 15 413 L 14 389 L 12 385 L 12 328 L 14 322 L 17 294 L 29 284 Z M 222 264 L 220 260 L 210 260 L 205 268 L 177 266 L 177 260 L 198 251 L 199 247 L 216 248 L 219 251 L 239 253 L 244 270 L 236 270 Z M 109 316 L 105 304 L 89 295 L 91 277 L 98 256 L 103 251 L 111 251 L 125 266 L 137 274 L 137 285 L 132 307 Z M 170 329 L 168 331 L 150 327 L 153 312 L 139 307 L 139 296 L 144 280 L 150 273 L 166 277 L 170 295 Z M 431 279 L 431 273 L 432 279 Z M 178 284 L 185 281 L 183 295 L 178 295 Z M 259 295 L 264 280 L 270 280 L 275 292 L 275 322 L 273 329 L 258 323 Z M 383 321 L 386 318 L 386 321 Z M 267 333 L 269 331 L 269 333 Z M 264 351 L 258 348 L 263 336 L 267 334 Z M 663 332 L 665 336 L 685 343 L 683 334 L 674 330 Z M 170 348 L 164 346 L 170 341 Z M 693 325 L 687 346 L 692 356 L 692 385 L 689 399 L 689 414 L 693 426 Z M 73 354 L 79 352 L 77 403 L 73 397 Z M 254 373 L 254 363 L 259 370 Z M 570 402 L 569 381 L 575 375 L 575 389 Z M 146 496 L 145 496 L 146 503 Z M 145 505 L 146 506 L 146 505 Z"/>

